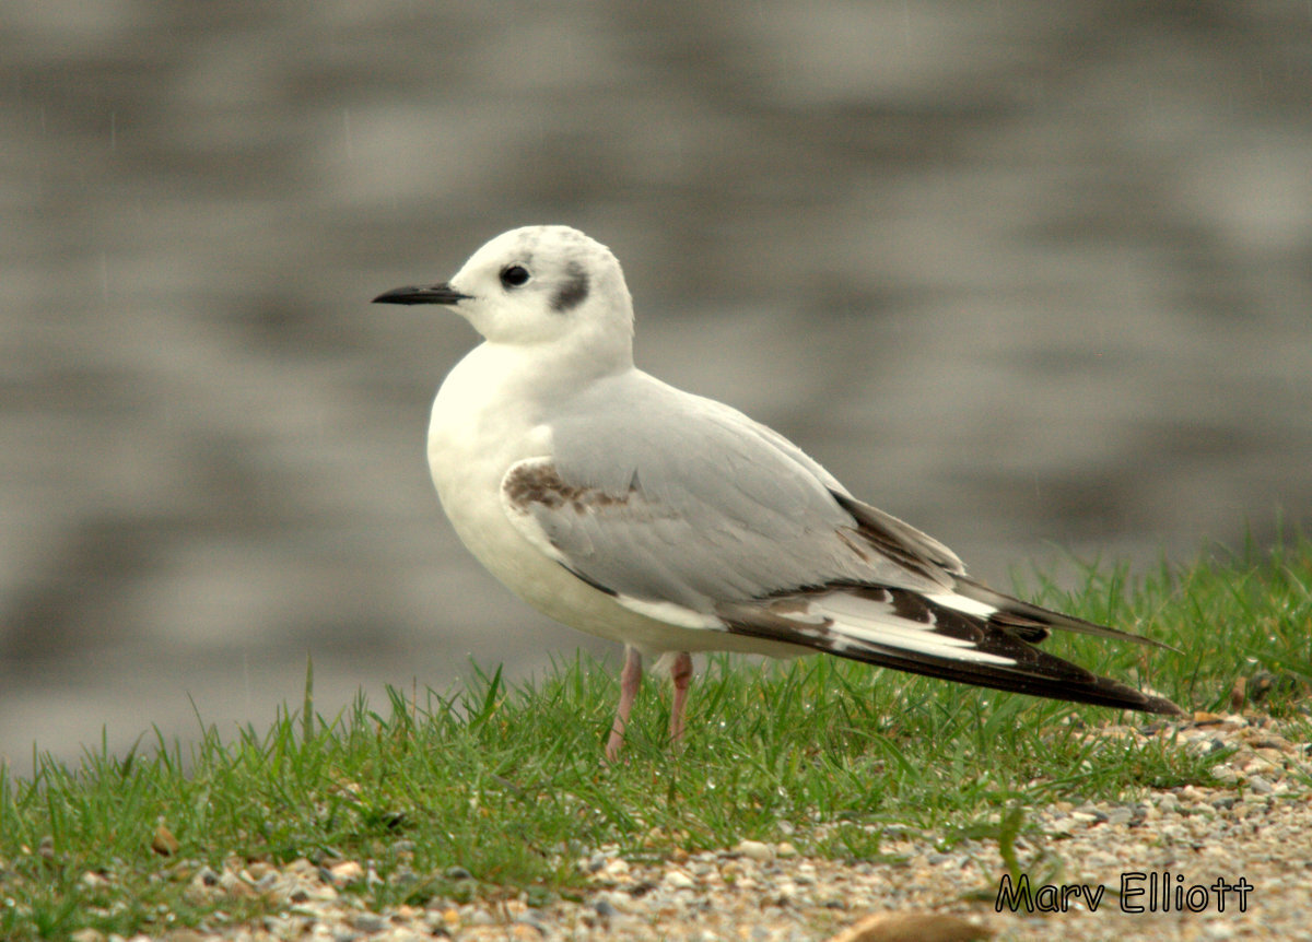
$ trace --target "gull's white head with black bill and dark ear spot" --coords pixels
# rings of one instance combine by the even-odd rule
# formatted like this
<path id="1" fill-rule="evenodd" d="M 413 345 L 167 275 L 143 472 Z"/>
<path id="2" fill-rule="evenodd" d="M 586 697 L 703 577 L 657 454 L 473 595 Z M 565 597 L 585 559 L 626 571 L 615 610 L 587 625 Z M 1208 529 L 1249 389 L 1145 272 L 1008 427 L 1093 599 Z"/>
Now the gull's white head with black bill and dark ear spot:
<path id="1" fill-rule="evenodd" d="M 525 226 L 475 252 L 449 282 L 398 287 L 390 304 L 447 304 L 489 342 L 632 356 L 634 308 L 619 261 L 568 226 Z"/>

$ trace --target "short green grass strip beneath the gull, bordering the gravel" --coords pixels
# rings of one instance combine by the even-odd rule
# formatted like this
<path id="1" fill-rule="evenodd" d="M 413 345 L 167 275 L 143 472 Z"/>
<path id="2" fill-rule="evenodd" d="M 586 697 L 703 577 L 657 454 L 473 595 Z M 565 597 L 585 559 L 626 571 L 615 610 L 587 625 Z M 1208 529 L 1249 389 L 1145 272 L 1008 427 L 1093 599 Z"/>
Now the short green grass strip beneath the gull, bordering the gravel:
<path id="1" fill-rule="evenodd" d="M 1075 592 L 1042 579 L 1021 592 L 1182 653 L 1081 636 L 1054 639 L 1054 651 L 1199 710 L 1228 710 L 1239 678 L 1265 674 L 1261 708 L 1308 737 L 1312 543 L 1082 576 Z M 89 749 L 77 766 L 35 756 L 30 771 L 0 768 L 0 938 L 241 920 L 268 904 L 226 900 L 218 913 L 185 892 L 201 866 L 234 857 L 367 858 L 382 883 L 356 892 L 374 908 L 523 890 L 569 897 L 583 884 L 575 859 L 602 844 L 643 858 L 789 833 L 804 853 L 870 859 L 899 825 L 946 841 L 991 834 L 1006 858 L 1027 807 L 1207 785 L 1219 758 L 1168 736 L 1097 731 L 1157 718 L 834 659 L 764 670 L 712 659 L 694 681 L 686 747 L 666 748 L 668 694 L 648 684 L 626 761 L 604 768 L 614 674 L 576 659 L 508 687 L 500 672 L 475 672 L 450 697 L 392 691 L 335 718 L 307 708 L 307 677 L 306 705 L 266 731 L 202 726 L 185 748 L 156 735 L 127 756 Z M 172 855 L 151 848 L 160 824 L 180 842 Z"/>

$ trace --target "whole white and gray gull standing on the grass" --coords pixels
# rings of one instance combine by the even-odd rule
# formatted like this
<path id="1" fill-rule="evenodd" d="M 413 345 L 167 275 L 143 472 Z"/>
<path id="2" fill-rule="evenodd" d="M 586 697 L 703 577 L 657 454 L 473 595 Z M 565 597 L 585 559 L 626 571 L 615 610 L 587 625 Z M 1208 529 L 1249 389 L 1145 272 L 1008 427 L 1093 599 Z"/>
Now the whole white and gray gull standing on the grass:
<path id="1" fill-rule="evenodd" d="M 1157 642 L 989 589 L 778 432 L 635 367 L 619 261 L 583 232 L 512 230 L 450 281 L 374 300 L 440 304 L 483 336 L 433 403 L 433 483 L 461 541 L 506 588 L 625 645 L 607 761 L 623 745 L 644 656 L 669 669 L 669 737 L 680 743 L 697 651 L 827 652 L 1181 712 L 1035 647 L 1054 628 Z"/>

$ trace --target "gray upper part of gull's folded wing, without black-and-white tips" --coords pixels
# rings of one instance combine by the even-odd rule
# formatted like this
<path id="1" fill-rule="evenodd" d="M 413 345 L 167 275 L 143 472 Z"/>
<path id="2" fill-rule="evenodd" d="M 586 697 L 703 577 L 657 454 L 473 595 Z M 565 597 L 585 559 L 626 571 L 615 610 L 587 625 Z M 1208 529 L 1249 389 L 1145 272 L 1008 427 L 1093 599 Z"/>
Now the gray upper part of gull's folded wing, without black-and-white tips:
<path id="1" fill-rule="evenodd" d="M 834 581 L 943 592 L 963 573 L 778 433 L 646 374 L 594 383 L 548 425 L 554 454 L 510 468 L 506 512 L 614 594 L 711 613 Z"/>

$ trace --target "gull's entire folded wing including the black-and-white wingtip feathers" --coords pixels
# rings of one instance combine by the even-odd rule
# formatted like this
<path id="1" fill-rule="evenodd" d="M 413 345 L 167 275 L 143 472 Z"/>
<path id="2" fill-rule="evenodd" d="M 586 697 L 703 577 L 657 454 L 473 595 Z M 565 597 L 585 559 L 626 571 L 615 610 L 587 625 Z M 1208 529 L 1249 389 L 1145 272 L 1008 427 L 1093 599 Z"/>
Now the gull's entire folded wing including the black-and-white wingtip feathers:
<path id="1" fill-rule="evenodd" d="M 514 464 L 502 505 L 626 607 L 945 680 L 1178 712 L 1034 647 L 1050 628 L 1147 639 L 971 580 L 942 543 L 720 403 L 626 374 L 548 424 L 554 454 Z"/>

